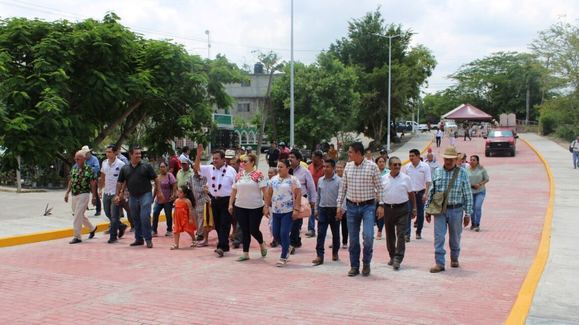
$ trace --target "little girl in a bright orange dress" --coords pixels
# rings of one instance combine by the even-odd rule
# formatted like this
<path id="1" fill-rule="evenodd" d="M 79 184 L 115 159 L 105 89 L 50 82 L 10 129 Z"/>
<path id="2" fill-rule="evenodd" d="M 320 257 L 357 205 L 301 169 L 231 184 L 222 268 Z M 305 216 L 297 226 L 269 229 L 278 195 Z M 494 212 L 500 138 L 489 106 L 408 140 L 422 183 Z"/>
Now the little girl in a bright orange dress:
<path id="1" fill-rule="evenodd" d="M 186 186 L 181 186 L 177 190 L 177 200 L 175 200 L 175 213 L 173 217 L 173 234 L 175 234 L 175 245 L 171 246 L 171 250 L 179 249 L 179 235 L 181 232 L 186 232 L 191 237 L 193 243 L 191 247 L 197 246 L 195 240 L 195 231 L 197 225 L 195 224 L 195 197 L 193 191 Z"/>

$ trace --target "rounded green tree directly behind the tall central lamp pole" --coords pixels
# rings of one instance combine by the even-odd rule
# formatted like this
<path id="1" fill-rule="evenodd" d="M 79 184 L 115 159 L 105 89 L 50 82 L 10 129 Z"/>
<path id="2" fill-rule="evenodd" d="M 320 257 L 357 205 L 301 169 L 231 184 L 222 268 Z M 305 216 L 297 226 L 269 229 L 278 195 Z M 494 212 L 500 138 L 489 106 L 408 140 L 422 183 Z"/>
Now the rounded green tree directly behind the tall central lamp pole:
<path id="1" fill-rule="evenodd" d="M 275 126 L 280 139 L 290 138 L 290 65 L 284 67 L 272 89 Z M 314 147 L 347 127 L 358 106 L 357 77 L 333 54 L 321 53 L 315 63 L 294 64 L 294 142 Z M 271 136 L 272 125 L 266 133 Z M 272 139 L 272 138 L 270 138 Z"/>

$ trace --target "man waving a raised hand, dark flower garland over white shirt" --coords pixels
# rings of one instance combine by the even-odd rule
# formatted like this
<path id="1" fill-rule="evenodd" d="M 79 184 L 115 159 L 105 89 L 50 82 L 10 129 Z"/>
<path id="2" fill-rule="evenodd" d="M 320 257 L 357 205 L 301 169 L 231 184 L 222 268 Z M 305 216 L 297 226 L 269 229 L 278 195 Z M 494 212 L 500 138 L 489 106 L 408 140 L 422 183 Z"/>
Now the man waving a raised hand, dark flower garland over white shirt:
<path id="1" fill-rule="evenodd" d="M 203 154 L 203 145 L 197 146 L 197 156 L 193 168 L 199 175 L 207 178 L 207 188 L 211 196 L 211 210 L 213 222 L 217 231 L 217 249 L 215 253 L 223 256 L 223 252 L 229 252 L 229 231 L 231 230 L 231 214 L 229 213 L 229 197 L 232 185 L 235 181 L 235 169 L 225 164 L 225 152 L 215 150 L 212 152 L 213 165 L 201 166 L 200 159 Z"/>

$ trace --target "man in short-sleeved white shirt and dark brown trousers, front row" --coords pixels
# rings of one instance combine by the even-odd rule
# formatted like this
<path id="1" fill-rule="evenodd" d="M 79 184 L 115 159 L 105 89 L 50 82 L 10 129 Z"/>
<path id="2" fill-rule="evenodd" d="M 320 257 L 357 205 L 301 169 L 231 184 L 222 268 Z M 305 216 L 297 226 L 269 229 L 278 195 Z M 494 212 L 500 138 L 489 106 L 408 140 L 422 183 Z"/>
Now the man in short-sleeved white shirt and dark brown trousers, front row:
<path id="1" fill-rule="evenodd" d="M 412 191 L 412 181 L 400 172 L 400 158 L 392 157 L 388 162 L 390 172 L 382 176 L 384 187 L 384 226 L 386 227 L 386 247 L 390 254 L 388 265 L 400 268 L 406 250 L 405 234 L 411 202 L 412 219 L 416 217 L 416 195 Z M 395 230 L 394 230 L 395 227 Z"/>

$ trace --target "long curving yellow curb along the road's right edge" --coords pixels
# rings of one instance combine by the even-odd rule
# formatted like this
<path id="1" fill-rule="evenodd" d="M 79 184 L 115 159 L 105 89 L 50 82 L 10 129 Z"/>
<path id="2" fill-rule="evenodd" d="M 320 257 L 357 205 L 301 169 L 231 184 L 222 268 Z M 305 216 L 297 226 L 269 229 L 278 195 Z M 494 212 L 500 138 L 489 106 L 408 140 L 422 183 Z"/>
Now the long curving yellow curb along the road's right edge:
<path id="1" fill-rule="evenodd" d="M 541 156 L 541 154 L 535 149 L 529 142 L 525 139 L 519 138 L 519 140 L 525 142 L 539 157 L 545 169 L 547 170 L 547 176 L 549 178 L 549 204 L 547 205 L 547 213 L 545 213 L 545 221 L 543 223 L 543 232 L 541 233 L 541 241 L 539 242 L 539 248 L 537 249 L 537 255 L 535 260 L 527 272 L 527 276 L 523 281 L 521 290 L 515 300 L 515 304 L 512 306 L 511 312 L 508 315 L 505 325 L 523 325 L 529 313 L 529 308 L 533 302 L 533 296 L 535 290 L 537 289 L 537 284 L 543 274 L 543 269 L 547 263 L 547 258 L 549 257 L 549 245 L 551 244 L 551 224 L 553 221 L 553 206 L 555 205 L 555 180 L 553 179 L 553 174 L 551 173 L 551 168 L 549 164 Z"/>

